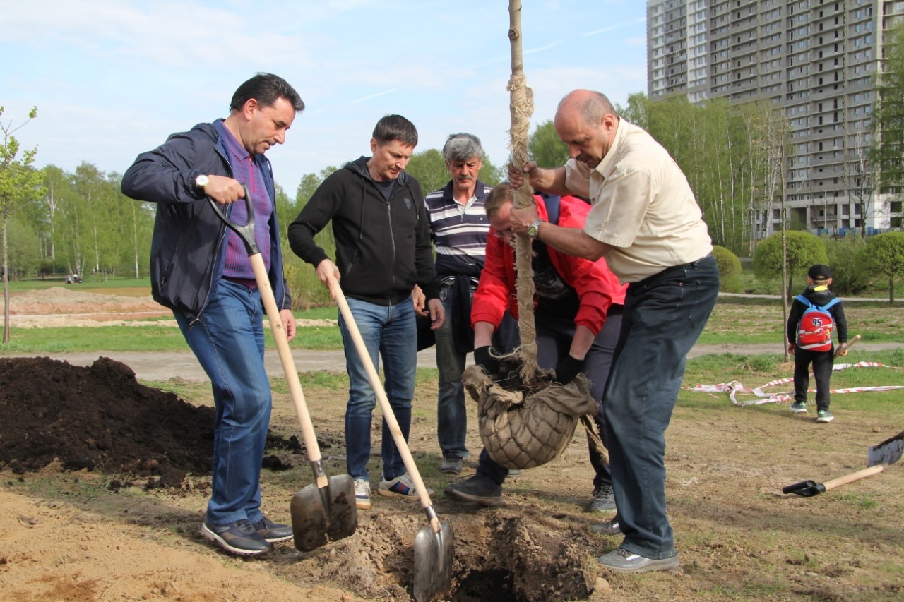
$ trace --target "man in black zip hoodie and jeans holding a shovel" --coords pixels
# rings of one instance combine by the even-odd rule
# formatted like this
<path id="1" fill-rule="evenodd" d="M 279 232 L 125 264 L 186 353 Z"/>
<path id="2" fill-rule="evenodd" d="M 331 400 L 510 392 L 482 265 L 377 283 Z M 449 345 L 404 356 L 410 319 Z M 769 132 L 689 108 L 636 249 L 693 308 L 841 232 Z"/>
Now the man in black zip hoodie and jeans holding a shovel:
<path id="1" fill-rule="evenodd" d="M 372 156 L 362 156 L 327 177 L 288 227 L 292 250 L 315 267 L 324 286 L 329 287 L 331 279 L 339 280 L 373 364 L 379 365 L 378 355 L 382 357 L 386 396 L 406 441 L 418 367 L 411 289 L 417 284 L 424 291 L 434 330 L 445 318 L 424 194 L 420 183 L 405 172 L 417 144 L 418 130 L 408 119 L 400 115 L 381 118 L 373 129 Z M 314 241 L 315 234 L 330 221 L 335 264 Z M 339 327 L 350 381 L 345 411 L 346 466 L 354 479 L 355 503 L 367 510 L 371 507 L 367 460 L 376 394 L 342 315 Z M 418 499 L 385 419 L 381 456 L 378 493 Z"/>

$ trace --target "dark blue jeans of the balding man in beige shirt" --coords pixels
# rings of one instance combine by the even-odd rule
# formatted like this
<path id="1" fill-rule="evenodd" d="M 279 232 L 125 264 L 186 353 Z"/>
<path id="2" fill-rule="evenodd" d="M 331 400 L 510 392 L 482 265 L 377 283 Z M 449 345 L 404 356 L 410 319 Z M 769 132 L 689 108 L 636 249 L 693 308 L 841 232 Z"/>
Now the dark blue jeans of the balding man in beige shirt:
<path id="1" fill-rule="evenodd" d="M 627 289 L 604 413 L 622 547 L 645 558 L 676 553 L 665 513 L 665 429 L 687 353 L 718 294 L 719 270 L 711 256 Z"/>

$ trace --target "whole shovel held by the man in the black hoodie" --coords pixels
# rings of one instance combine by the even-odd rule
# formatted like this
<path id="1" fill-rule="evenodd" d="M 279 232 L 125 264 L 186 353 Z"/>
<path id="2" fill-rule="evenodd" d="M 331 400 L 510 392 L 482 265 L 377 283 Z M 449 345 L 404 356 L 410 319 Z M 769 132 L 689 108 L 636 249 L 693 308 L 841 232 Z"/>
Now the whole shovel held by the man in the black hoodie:
<path id="1" fill-rule="evenodd" d="M 414 457 L 405 441 L 405 436 L 399 428 L 399 421 L 396 420 L 392 411 L 389 398 L 386 397 L 386 390 L 380 381 L 380 375 L 373 366 L 371 355 L 367 351 L 367 345 L 358 330 L 358 325 L 354 322 L 352 309 L 345 300 L 342 288 L 339 282 L 334 278 L 330 279 L 330 293 L 333 295 L 339 306 L 339 311 L 345 320 L 349 334 L 352 335 L 354 347 L 358 351 L 358 356 L 364 365 L 368 379 L 371 381 L 373 392 L 380 401 L 380 407 L 383 410 L 383 419 L 389 426 L 392 433 L 392 440 L 395 441 L 396 447 L 399 449 L 402 462 L 411 480 L 414 482 L 415 490 L 418 492 L 420 505 L 427 514 L 427 520 L 430 523 L 428 527 L 424 527 L 418 531 L 418 535 L 414 538 L 414 599 L 418 602 L 433 600 L 442 597 L 450 588 L 452 588 L 452 560 L 455 553 L 455 546 L 452 541 L 452 527 L 447 522 L 439 522 L 436 511 L 433 510 L 433 503 L 430 502 L 430 496 L 427 494 L 427 486 L 420 478 L 418 466 L 414 464 Z M 411 344 L 415 342 L 412 340 Z"/>

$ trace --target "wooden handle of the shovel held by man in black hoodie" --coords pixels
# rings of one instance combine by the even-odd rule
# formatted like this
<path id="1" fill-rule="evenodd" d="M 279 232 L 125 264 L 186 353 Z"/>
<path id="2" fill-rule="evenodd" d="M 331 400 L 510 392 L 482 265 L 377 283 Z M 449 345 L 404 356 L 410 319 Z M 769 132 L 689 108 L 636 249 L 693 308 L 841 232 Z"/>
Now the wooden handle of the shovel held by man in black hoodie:
<path id="1" fill-rule="evenodd" d="M 331 277 L 329 287 L 330 294 L 334 297 L 336 304 L 339 306 L 339 311 L 342 313 L 342 316 L 345 320 L 345 326 L 348 328 L 349 334 L 352 335 L 354 347 L 358 352 L 358 356 L 361 358 L 365 372 L 367 372 L 368 380 L 371 381 L 371 388 L 376 394 L 377 400 L 380 401 L 380 408 L 383 410 L 383 419 L 386 420 L 386 424 L 390 428 L 390 432 L 392 433 L 392 440 L 395 441 L 396 447 L 399 448 L 399 455 L 401 456 L 402 462 L 405 464 L 405 468 L 406 470 L 408 470 L 408 474 L 410 475 L 411 480 L 414 482 L 414 488 L 415 491 L 418 492 L 420 505 L 423 506 L 424 510 L 427 511 L 428 516 L 430 516 L 433 510 L 433 503 L 430 502 L 430 496 L 427 494 L 427 487 L 424 485 L 423 480 L 420 478 L 418 466 L 414 463 L 414 457 L 411 456 L 411 451 L 408 447 L 408 443 L 405 441 L 405 436 L 402 435 L 401 428 L 399 428 L 399 421 L 396 419 L 395 413 L 392 411 L 390 400 L 386 397 L 386 390 L 383 389 L 383 385 L 380 381 L 380 375 L 377 373 L 377 369 L 373 366 L 371 354 L 367 351 L 367 344 L 364 343 L 364 339 L 361 336 L 361 331 L 358 330 L 358 325 L 355 324 L 354 316 L 352 315 L 352 308 L 348 306 L 348 301 L 345 300 L 345 295 L 342 292 L 342 287 L 339 286 L 338 280 L 336 280 L 334 277 Z M 435 513 L 432 514 L 430 527 L 435 533 L 438 533 L 441 529 Z"/>

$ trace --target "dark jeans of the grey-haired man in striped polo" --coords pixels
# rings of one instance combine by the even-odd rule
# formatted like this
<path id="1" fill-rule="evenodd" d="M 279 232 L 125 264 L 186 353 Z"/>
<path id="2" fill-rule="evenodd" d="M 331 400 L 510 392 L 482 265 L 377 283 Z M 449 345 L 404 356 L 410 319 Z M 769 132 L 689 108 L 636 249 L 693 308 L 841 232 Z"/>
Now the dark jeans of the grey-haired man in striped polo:
<path id="1" fill-rule="evenodd" d="M 437 396 L 437 438 L 443 456 L 467 457 L 467 410 L 465 385 L 461 375 L 465 372 L 467 354 L 456 349 L 452 335 L 453 320 L 469 320 L 469 315 L 454 315 L 454 287 L 439 289 L 439 300 L 446 310 L 446 320 L 434 331 L 437 340 L 437 368 L 439 369 L 439 393 Z"/>

